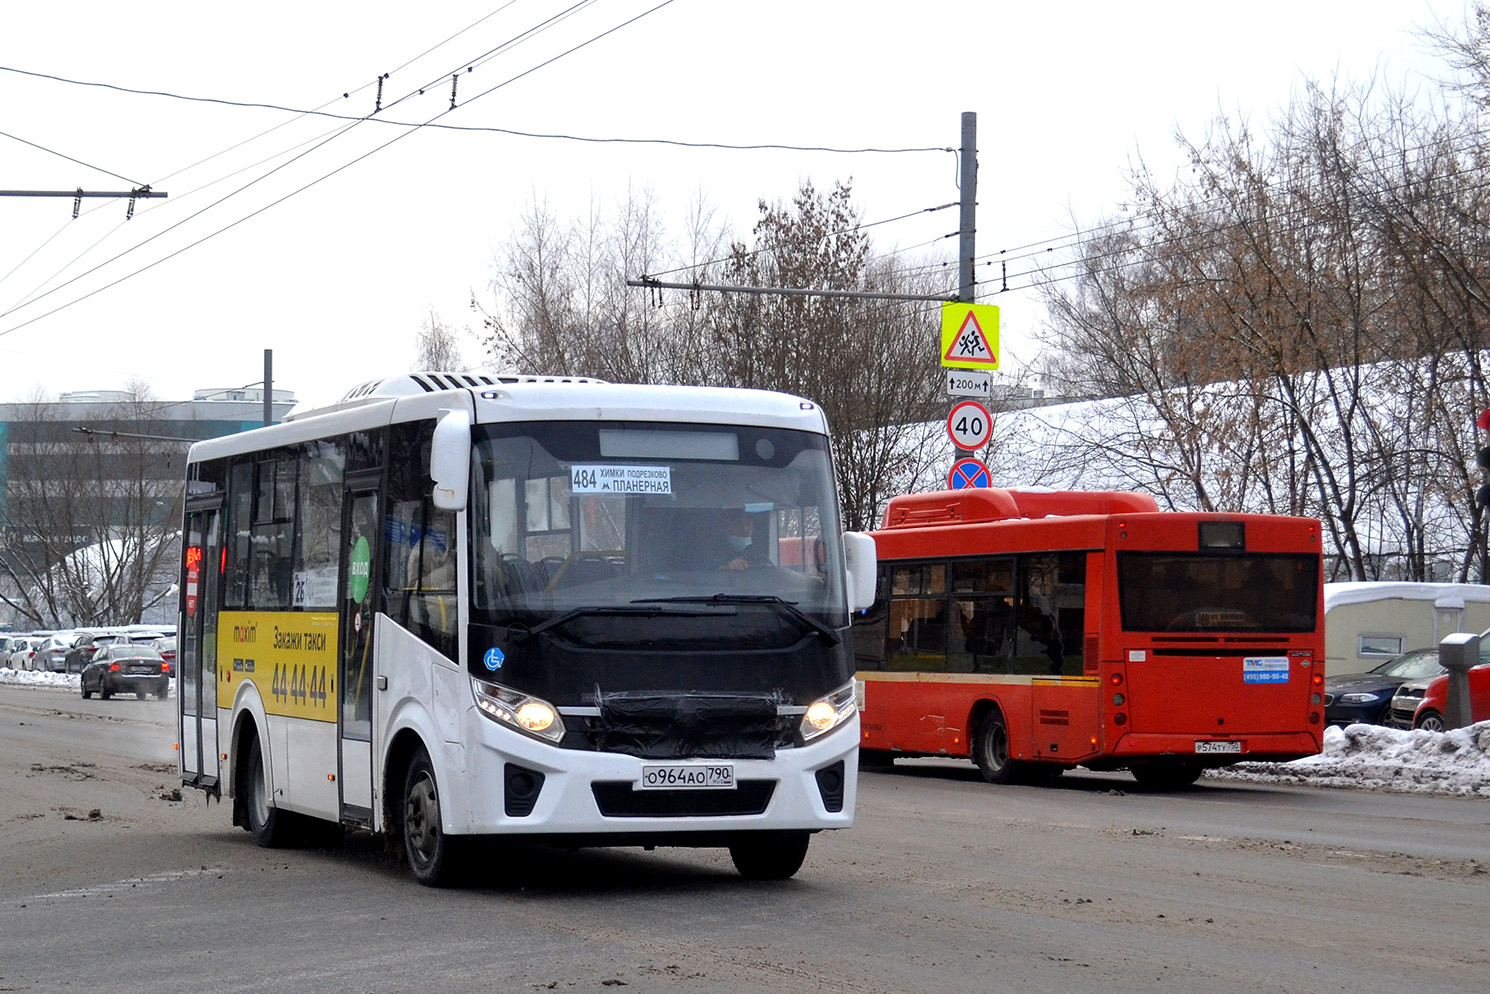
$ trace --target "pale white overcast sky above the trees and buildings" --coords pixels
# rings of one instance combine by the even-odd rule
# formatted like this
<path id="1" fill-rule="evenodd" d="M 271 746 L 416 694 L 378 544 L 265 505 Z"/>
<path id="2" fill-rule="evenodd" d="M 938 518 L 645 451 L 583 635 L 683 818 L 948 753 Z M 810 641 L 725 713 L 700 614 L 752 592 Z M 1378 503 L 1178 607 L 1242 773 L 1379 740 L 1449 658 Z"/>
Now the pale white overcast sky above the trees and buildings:
<path id="1" fill-rule="evenodd" d="M 1420 28 L 1466 10 L 660 1 L 6 4 L 0 189 L 170 197 L 130 221 L 122 200 L 83 200 L 73 221 L 72 200 L 0 198 L 0 401 L 130 382 L 182 399 L 259 380 L 264 349 L 276 386 L 334 401 L 407 371 L 431 311 L 478 325 L 468 301 L 490 301 L 493 259 L 535 198 L 571 218 L 650 189 L 679 229 L 702 198 L 748 232 L 758 200 L 806 179 L 851 177 L 866 222 L 958 197 L 946 151 L 586 143 L 292 112 L 368 115 L 381 73 L 383 119 L 592 139 L 948 149 L 971 110 L 985 255 L 1119 212 L 1137 155 L 1173 170 L 1176 130 L 1199 137 L 1217 113 L 1264 125 L 1305 79 L 1426 88 L 1444 70 Z M 955 259 L 955 238 L 939 240 L 955 227 L 943 210 L 872 235 L 881 252 Z M 1003 307 L 1006 359 L 1031 358 L 1033 294 L 988 303 Z M 481 362 L 474 337 L 462 350 Z"/>

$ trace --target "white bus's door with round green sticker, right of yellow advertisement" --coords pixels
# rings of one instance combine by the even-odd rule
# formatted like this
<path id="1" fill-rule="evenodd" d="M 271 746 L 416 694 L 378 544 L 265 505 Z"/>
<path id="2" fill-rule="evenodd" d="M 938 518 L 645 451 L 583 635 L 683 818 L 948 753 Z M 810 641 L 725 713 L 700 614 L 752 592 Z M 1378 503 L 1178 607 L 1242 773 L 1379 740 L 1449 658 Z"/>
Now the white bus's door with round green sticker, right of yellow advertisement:
<path id="1" fill-rule="evenodd" d="M 364 474 L 365 475 L 365 474 Z M 341 632 L 337 674 L 341 820 L 372 824 L 372 607 L 383 516 L 377 474 L 347 480 L 341 522 Z"/>

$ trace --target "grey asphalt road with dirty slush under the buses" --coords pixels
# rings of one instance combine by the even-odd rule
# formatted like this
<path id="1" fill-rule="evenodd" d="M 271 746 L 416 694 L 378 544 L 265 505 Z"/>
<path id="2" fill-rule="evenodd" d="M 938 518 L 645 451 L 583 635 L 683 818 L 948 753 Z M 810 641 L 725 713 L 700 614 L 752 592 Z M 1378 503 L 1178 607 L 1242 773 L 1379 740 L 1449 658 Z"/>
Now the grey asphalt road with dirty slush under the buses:
<path id="1" fill-rule="evenodd" d="M 1484 800 L 918 762 L 785 884 L 498 846 L 432 891 L 173 800 L 173 706 L 0 687 L 0 991 L 1490 990 Z"/>

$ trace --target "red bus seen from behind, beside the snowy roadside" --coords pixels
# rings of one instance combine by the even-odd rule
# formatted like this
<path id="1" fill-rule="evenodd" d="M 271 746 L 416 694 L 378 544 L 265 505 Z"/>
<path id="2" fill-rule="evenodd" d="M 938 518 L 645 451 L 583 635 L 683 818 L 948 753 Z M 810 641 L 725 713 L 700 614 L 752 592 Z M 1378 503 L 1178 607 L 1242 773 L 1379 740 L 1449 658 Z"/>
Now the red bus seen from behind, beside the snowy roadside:
<path id="1" fill-rule="evenodd" d="M 1323 744 L 1320 523 L 1140 493 L 897 496 L 855 618 L 860 762 L 970 757 L 1183 787 Z"/>

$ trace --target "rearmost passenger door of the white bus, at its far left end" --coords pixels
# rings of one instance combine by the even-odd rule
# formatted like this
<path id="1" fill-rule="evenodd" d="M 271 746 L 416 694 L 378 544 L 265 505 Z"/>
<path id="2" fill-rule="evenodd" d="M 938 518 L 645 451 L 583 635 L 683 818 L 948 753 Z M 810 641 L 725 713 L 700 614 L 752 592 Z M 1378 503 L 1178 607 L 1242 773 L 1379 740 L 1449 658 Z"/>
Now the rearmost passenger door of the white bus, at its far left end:
<path id="1" fill-rule="evenodd" d="M 218 604 L 222 595 L 222 504 L 186 511 L 176 696 L 182 782 L 218 793 Z"/>

